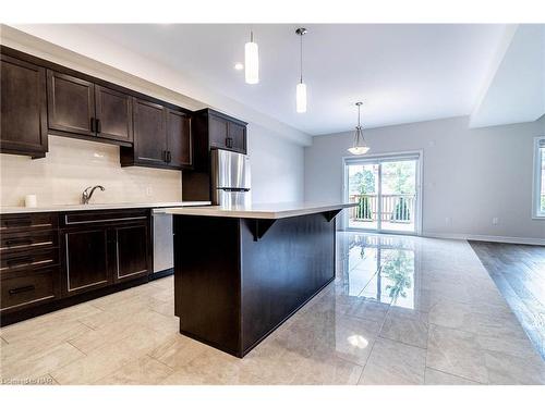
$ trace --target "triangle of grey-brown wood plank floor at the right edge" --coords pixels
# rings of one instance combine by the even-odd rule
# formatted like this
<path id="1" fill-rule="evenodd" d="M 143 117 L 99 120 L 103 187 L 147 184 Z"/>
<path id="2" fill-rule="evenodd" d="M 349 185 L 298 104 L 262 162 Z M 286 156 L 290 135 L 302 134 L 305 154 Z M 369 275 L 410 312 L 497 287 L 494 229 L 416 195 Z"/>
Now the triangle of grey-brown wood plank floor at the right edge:
<path id="1" fill-rule="evenodd" d="M 470 245 L 545 360 L 545 247 L 476 240 Z"/>

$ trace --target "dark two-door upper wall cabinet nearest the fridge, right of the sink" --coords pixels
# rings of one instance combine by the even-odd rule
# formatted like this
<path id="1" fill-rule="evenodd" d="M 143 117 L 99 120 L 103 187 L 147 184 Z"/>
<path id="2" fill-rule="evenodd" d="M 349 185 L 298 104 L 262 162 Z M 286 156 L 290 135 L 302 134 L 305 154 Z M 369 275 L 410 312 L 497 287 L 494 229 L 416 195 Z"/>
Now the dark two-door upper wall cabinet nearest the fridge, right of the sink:
<path id="1" fill-rule="evenodd" d="M 191 118 L 147 100 L 133 99 L 134 145 L 121 148 L 121 165 L 191 169 Z"/>

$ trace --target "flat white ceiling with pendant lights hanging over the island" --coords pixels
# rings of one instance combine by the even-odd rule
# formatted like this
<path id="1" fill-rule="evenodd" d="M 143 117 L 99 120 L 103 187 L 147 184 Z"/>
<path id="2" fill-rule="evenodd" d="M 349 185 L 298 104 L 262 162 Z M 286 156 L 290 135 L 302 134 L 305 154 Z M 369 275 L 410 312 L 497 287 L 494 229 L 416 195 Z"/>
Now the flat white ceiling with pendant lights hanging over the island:
<path id="1" fill-rule="evenodd" d="M 87 25 L 121 45 L 302 132 L 318 135 L 355 125 L 363 100 L 366 127 L 470 114 L 506 32 L 505 25 L 305 25 L 308 110 L 295 112 L 296 24 L 254 25 L 259 84 L 246 85 L 249 25 Z M 81 26 L 80 26 L 81 27 Z"/>

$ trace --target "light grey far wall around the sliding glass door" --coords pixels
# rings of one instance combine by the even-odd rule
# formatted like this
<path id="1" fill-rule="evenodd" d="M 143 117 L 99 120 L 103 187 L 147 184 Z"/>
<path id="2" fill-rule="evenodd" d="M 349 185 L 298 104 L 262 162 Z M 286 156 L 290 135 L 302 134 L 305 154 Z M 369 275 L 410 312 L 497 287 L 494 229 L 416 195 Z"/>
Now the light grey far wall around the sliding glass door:
<path id="1" fill-rule="evenodd" d="M 545 220 L 532 219 L 533 123 L 470 129 L 453 118 L 367 129 L 370 153 L 424 151 L 423 235 L 543 239 Z M 305 199 L 342 197 L 342 157 L 353 133 L 314 137 L 305 148 Z M 492 219 L 499 218 L 498 225 Z M 446 219 L 451 220 L 450 223 Z M 529 242 L 531 242 L 530 239 Z"/>

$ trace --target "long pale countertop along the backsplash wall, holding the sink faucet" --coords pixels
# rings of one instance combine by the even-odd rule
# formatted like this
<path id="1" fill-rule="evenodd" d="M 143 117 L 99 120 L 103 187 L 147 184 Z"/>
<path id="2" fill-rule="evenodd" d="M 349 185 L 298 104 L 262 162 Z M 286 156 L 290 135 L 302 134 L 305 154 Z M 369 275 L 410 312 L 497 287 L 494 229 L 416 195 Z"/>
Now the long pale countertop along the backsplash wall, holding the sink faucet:
<path id="1" fill-rule="evenodd" d="M 174 201 L 174 202 L 117 202 L 89 205 L 52 205 L 38 207 L 0 207 L 0 213 L 12 214 L 20 212 L 56 212 L 84 210 L 116 210 L 123 208 L 177 208 L 191 206 L 209 206 L 210 201 Z"/>

